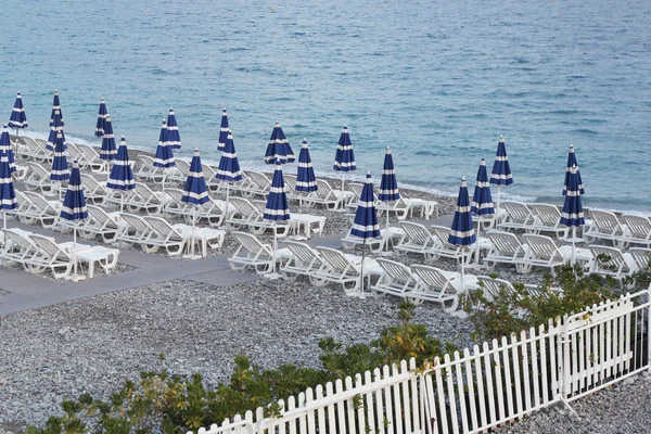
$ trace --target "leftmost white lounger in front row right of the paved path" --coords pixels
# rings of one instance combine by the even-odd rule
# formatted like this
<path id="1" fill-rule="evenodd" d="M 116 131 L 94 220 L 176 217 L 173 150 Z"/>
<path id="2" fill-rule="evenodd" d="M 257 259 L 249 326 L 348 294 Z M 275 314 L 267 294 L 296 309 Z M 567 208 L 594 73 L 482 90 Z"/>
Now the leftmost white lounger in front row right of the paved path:
<path id="1" fill-rule="evenodd" d="M 230 234 L 240 244 L 233 256 L 228 258 L 228 264 L 235 271 L 253 268 L 258 275 L 265 275 L 273 270 L 275 263 L 282 264 L 290 255 L 288 248 L 273 252 L 269 244 L 260 243 L 251 233 L 233 231 Z"/>

